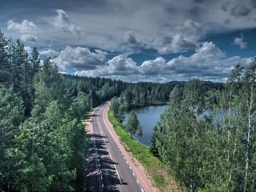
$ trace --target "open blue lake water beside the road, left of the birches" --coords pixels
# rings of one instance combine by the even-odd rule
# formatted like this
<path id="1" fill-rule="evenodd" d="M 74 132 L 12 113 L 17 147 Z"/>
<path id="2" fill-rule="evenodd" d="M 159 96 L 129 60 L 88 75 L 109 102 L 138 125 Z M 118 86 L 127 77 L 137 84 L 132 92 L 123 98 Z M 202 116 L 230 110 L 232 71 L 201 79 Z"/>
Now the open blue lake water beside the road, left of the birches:
<path id="1" fill-rule="evenodd" d="M 138 120 L 140 121 L 140 126 L 142 127 L 142 137 L 133 136 L 134 139 L 141 142 L 143 145 L 148 147 L 151 146 L 151 136 L 154 131 L 154 126 L 157 124 L 157 121 L 160 119 L 160 115 L 164 112 L 166 105 L 154 105 L 154 106 L 146 106 L 146 107 L 138 107 L 135 110 Z M 125 120 L 123 125 L 125 124 L 129 112 L 125 112 Z"/>

